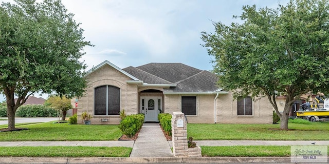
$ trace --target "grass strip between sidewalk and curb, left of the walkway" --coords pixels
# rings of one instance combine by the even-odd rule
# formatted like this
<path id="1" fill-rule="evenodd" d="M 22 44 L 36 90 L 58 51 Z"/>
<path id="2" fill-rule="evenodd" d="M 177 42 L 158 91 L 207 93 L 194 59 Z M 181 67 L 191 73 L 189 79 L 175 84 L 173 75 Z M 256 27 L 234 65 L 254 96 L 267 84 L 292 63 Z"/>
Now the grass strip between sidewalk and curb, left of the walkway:
<path id="1" fill-rule="evenodd" d="M 0 147 L 0 157 L 129 157 L 126 147 Z"/>

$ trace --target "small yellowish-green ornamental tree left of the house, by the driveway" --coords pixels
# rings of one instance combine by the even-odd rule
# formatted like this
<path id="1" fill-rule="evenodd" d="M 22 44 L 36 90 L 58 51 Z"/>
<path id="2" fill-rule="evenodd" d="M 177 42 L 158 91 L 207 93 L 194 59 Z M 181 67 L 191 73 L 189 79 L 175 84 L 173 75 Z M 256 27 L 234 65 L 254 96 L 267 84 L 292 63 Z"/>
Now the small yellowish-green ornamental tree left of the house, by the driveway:
<path id="1" fill-rule="evenodd" d="M 67 110 L 73 108 L 71 105 L 71 100 L 66 98 L 65 96 L 60 97 L 60 96 L 51 95 L 45 101 L 45 105 L 53 109 L 56 109 L 58 113 L 62 114 L 62 121 L 65 120 Z M 60 114 L 58 114 L 58 121 L 60 121 L 59 119 Z"/>

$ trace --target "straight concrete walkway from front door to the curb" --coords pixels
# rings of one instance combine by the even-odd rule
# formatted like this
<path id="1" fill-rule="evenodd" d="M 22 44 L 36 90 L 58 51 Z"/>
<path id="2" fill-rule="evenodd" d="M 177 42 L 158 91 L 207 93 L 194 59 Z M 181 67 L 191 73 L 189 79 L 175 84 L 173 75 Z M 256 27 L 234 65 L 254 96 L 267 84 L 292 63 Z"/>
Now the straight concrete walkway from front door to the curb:
<path id="1" fill-rule="evenodd" d="M 130 157 L 174 157 L 174 155 L 159 124 L 144 123 Z"/>

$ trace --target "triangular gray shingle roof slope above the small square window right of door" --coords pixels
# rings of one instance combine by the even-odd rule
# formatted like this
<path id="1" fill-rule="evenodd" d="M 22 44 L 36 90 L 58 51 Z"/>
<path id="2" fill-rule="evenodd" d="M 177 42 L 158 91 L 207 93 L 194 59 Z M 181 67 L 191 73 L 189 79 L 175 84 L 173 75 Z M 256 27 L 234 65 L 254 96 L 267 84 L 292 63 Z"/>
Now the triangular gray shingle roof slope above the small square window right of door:
<path id="1" fill-rule="evenodd" d="M 165 89 L 163 92 L 214 92 L 218 89 L 216 86 L 217 79 L 215 74 L 202 71 L 184 80 L 178 81 L 176 87 Z"/>

